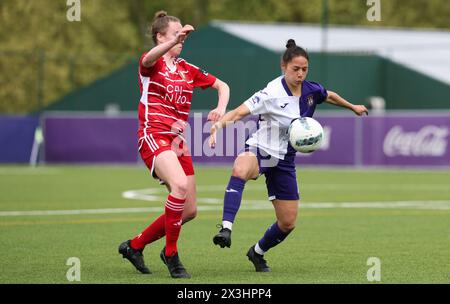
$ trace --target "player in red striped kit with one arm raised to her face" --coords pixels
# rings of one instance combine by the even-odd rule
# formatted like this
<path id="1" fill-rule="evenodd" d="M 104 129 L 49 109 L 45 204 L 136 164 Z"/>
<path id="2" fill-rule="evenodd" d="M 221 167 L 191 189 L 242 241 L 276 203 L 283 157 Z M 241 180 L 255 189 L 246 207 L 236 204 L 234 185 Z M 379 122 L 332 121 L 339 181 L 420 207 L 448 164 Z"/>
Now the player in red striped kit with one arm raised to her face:
<path id="1" fill-rule="evenodd" d="M 139 61 L 139 152 L 154 178 L 163 181 L 170 193 L 165 212 L 142 233 L 119 246 L 119 253 L 137 270 L 151 273 L 142 251 L 147 244 L 166 236 L 160 257 L 173 278 L 189 278 L 180 262 L 177 240 L 181 225 L 196 215 L 196 189 L 192 158 L 185 146 L 183 131 L 188 119 L 194 88 L 218 91 L 217 108 L 208 119 L 220 119 L 228 104 L 228 85 L 178 56 L 191 25 L 182 26 L 166 12 L 156 13 L 152 24 L 155 43 Z"/>

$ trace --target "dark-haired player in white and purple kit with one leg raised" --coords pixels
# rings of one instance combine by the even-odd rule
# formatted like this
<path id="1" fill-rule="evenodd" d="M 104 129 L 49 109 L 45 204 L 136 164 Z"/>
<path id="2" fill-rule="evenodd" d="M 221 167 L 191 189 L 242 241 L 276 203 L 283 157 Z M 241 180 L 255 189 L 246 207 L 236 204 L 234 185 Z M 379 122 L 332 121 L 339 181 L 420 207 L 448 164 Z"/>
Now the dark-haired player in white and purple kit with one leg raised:
<path id="1" fill-rule="evenodd" d="M 216 132 L 226 124 L 252 114 L 259 115 L 258 129 L 246 141 L 245 151 L 235 160 L 232 176 L 224 195 L 222 225 L 213 242 L 231 246 L 231 230 L 239 210 L 245 183 L 264 174 L 269 200 L 275 208 L 277 221 L 247 252 L 257 272 L 270 271 L 264 254 L 281 243 L 295 228 L 299 193 L 295 172 L 295 150 L 289 144 L 288 128 L 292 120 L 312 117 L 318 104 L 345 107 L 356 115 L 368 114 L 363 105 L 354 105 L 322 85 L 306 81 L 309 57 L 307 52 L 289 39 L 283 55 L 283 74 L 269 82 L 236 109 L 225 114 L 211 128 L 210 146 L 216 143 Z"/>

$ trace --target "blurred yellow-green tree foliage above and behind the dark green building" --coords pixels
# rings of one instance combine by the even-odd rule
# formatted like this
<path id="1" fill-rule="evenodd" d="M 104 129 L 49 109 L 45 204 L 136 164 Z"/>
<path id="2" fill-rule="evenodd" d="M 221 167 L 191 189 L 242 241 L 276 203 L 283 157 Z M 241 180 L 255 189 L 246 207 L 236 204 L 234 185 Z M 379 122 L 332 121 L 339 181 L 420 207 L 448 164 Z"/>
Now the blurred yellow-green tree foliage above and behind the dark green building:
<path id="1" fill-rule="evenodd" d="M 0 0 L 0 113 L 39 109 L 150 48 L 148 24 L 161 9 L 196 27 L 236 20 L 450 28 L 447 0 L 380 1 L 382 20 L 370 22 L 366 0 L 80 0 L 81 22 L 69 22 L 66 0 Z"/>

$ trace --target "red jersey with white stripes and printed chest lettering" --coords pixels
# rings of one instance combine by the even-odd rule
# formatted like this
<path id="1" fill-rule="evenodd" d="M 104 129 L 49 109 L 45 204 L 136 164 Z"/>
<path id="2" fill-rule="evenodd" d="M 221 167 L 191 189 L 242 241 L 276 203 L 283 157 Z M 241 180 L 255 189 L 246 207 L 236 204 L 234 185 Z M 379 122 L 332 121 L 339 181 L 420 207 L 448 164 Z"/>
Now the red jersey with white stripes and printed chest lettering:
<path id="1" fill-rule="evenodd" d="M 177 58 L 171 70 L 163 57 L 147 68 L 139 60 L 139 139 L 149 134 L 180 134 L 191 108 L 194 88 L 206 89 L 216 77 Z"/>

